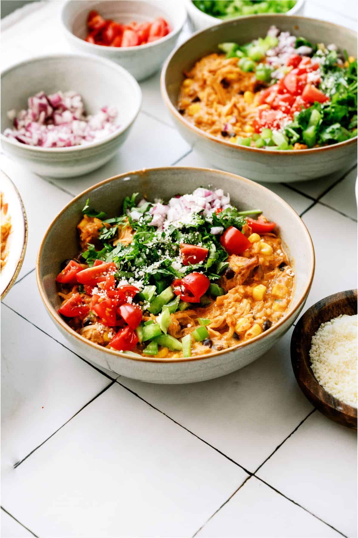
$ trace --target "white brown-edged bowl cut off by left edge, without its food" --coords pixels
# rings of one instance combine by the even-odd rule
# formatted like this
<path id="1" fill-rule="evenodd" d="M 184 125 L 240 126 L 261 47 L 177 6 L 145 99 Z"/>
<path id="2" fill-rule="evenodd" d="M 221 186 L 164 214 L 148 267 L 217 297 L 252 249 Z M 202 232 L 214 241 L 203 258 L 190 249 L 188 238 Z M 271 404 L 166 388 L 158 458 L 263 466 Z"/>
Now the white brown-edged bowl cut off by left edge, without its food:
<path id="1" fill-rule="evenodd" d="M 8 258 L 0 274 L 1 300 L 14 285 L 23 265 L 27 243 L 27 220 L 23 201 L 11 179 L 0 170 L 0 190 L 3 202 L 8 204 L 8 215 L 11 217 L 11 231 L 6 241 Z"/>

